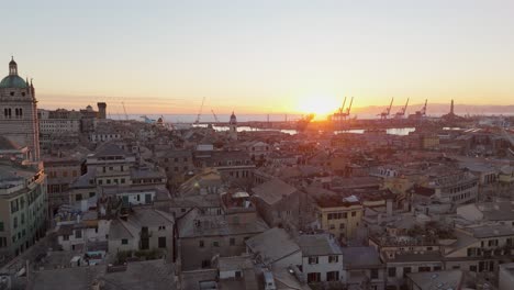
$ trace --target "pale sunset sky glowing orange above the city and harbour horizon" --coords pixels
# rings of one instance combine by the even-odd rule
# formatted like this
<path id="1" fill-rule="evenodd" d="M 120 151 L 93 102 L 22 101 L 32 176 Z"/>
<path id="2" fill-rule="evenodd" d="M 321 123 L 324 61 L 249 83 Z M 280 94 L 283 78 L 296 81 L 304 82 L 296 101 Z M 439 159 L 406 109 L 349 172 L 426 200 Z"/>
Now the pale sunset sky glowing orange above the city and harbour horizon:
<path id="1" fill-rule="evenodd" d="M 512 0 L 5 1 L 1 62 L 38 107 L 295 113 L 514 103 Z M 3 60 L 1 60 L 3 59 Z M 0 75 L 1 76 L 1 75 Z"/>

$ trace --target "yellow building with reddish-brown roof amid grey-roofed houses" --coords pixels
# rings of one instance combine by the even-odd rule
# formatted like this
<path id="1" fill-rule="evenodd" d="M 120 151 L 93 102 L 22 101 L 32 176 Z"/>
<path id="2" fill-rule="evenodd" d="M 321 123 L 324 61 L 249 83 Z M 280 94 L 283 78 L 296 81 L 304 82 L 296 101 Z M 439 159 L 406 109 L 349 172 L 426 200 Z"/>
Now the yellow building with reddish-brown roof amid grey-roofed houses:
<path id="1" fill-rule="evenodd" d="M 315 202 L 321 230 L 333 234 L 342 242 L 354 237 L 364 214 L 362 204 L 357 198 L 323 196 L 316 198 Z"/>

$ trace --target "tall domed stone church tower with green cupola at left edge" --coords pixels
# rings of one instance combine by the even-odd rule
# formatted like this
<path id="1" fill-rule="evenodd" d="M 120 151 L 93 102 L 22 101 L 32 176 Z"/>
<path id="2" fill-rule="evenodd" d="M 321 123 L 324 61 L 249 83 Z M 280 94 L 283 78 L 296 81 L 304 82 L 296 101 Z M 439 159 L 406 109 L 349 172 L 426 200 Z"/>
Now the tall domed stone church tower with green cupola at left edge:
<path id="1" fill-rule="evenodd" d="M 18 64 L 9 63 L 9 75 L 0 81 L 0 135 L 29 148 L 29 158 L 40 159 L 37 100 L 32 81 L 18 75 Z"/>

